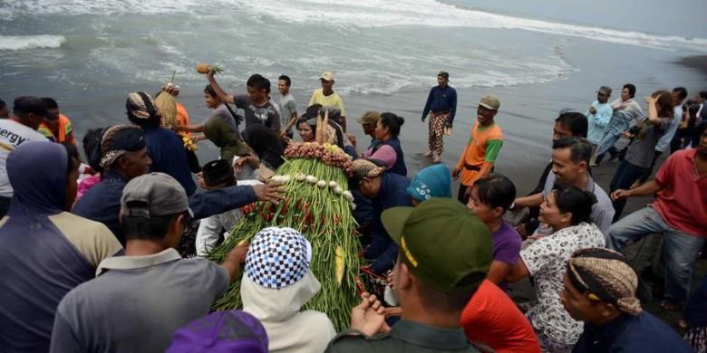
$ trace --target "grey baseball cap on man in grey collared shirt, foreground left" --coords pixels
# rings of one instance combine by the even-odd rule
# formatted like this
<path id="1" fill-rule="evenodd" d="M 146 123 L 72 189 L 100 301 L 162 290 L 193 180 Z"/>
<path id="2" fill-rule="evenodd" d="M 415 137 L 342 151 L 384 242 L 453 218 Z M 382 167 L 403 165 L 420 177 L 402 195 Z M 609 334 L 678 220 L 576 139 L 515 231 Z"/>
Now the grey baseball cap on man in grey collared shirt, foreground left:
<path id="1" fill-rule="evenodd" d="M 144 217 L 178 215 L 188 212 L 189 199 L 177 180 L 164 173 L 150 173 L 133 178 L 122 189 L 121 215 Z"/>

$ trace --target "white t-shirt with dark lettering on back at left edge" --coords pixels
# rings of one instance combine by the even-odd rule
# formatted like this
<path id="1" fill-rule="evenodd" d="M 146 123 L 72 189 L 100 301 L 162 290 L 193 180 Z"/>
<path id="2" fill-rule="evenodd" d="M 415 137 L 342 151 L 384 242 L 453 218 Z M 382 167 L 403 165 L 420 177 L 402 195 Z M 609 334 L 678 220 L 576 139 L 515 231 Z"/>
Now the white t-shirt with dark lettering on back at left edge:
<path id="1" fill-rule="evenodd" d="M 0 196 L 13 196 L 13 186 L 7 178 L 7 156 L 27 141 L 49 142 L 44 135 L 15 120 L 0 119 Z"/>

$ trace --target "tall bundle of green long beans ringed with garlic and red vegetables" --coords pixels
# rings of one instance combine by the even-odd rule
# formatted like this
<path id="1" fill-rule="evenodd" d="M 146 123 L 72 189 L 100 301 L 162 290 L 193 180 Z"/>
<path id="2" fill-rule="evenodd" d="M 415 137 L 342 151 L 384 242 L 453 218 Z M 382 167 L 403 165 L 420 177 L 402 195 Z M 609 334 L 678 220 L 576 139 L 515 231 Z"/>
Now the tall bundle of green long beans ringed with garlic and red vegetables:
<path id="1" fill-rule="evenodd" d="M 327 152 L 327 161 L 340 160 L 342 156 L 328 145 L 311 144 L 302 148 L 321 149 Z M 295 148 L 295 149 L 296 149 Z M 290 150 L 290 148 L 288 148 Z M 301 153 L 299 153 L 301 154 Z M 287 156 L 287 151 L 286 151 Z M 344 163 L 324 163 L 322 155 L 295 157 L 287 160 L 271 180 L 284 184 L 286 196 L 279 205 L 258 202 L 243 208 L 246 216 L 236 224 L 230 236 L 208 254 L 208 259 L 222 262 L 238 243 L 250 242 L 253 236 L 268 226 L 291 227 L 305 235 L 312 243 L 310 271 L 321 282 L 322 290 L 305 309 L 324 312 L 337 330 L 349 325 L 351 310 L 359 303 L 357 276 L 359 272 L 360 243 L 355 237 L 352 208 L 353 196 L 348 191 Z M 215 304 L 216 310 L 242 307 L 240 281 Z"/>

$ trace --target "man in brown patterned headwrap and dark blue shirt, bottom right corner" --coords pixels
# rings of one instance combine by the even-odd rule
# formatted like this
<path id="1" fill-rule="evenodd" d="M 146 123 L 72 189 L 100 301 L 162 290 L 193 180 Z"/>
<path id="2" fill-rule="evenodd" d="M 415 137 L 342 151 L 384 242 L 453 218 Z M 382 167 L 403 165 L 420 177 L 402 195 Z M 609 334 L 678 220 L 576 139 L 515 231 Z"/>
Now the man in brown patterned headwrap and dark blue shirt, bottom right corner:
<path id="1" fill-rule="evenodd" d="M 621 253 L 602 248 L 573 253 L 560 301 L 585 328 L 572 351 L 692 352 L 673 329 L 641 308 L 637 288 L 638 275 Z"/>

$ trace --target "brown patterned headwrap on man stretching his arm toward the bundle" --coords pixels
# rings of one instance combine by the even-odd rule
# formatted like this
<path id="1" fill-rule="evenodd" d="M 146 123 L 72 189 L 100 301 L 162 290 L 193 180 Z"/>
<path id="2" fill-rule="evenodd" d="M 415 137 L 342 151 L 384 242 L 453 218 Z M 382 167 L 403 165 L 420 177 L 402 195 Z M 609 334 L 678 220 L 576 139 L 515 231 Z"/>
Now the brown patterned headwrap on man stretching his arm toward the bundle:
<path id="1" fill-rule="evenodd" d="M 145 148 L 145 138 L 140 127 L 116 125 L 106 129 L 101 140 L 101 167 L 110 167 L 125 152 Z"/>

